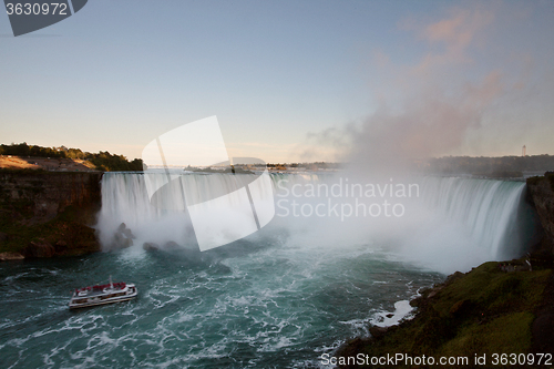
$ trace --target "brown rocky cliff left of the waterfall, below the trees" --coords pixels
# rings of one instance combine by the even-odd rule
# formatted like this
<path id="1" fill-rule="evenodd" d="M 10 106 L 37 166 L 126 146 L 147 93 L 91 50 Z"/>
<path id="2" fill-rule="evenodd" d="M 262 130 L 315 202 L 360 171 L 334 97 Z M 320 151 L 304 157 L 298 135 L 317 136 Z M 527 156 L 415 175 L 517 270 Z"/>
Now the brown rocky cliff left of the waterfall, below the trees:
<path id="1" fill-rule="evenodd" d="M 0 171 L 0 259 L 100 250 L 101 172 Z"/>

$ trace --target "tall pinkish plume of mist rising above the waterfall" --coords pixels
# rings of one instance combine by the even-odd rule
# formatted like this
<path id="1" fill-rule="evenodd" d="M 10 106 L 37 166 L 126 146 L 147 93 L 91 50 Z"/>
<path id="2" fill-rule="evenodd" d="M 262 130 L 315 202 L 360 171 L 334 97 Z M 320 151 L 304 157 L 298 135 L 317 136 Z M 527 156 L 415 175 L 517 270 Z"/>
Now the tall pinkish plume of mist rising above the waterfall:
<path id="1" fill-rule="evenodd" d="M 461 147 L 511 85 L 501 70 L 464 74 L 494 22 L 492 9 L 481 6 L 453 8 L 427 23 L 413 18 L 402 22 L 423 52 L 406 64 L 377 50 L 378 109 L 357 123 L 310 133 L 305 155 L 332 153 L 357 167 L 383 171 Z"/>

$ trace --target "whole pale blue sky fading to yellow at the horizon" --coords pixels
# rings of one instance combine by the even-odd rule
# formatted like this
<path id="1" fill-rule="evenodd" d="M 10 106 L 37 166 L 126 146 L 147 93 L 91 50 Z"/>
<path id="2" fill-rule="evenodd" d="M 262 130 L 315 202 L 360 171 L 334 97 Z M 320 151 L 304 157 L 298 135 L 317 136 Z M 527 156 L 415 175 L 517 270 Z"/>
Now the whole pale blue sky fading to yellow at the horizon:
<path id="1" fill-rule="evenodd" d="M 216 115 L 265 162 L 554 154 L 554 1 L 93 0 L 13 37 L 0 143 L 141 157 Z"/>

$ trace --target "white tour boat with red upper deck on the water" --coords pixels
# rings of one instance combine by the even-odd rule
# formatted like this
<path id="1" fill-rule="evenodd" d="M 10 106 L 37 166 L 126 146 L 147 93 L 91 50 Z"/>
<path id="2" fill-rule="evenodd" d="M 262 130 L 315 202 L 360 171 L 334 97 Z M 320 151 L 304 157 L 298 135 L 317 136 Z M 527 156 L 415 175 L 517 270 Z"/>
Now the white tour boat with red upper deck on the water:
<path id="1" fill-rule="evenodd" d="M 126 301 L 135 298 L 137 290 L 134 284 L 124 281 L 110 283 L 106 285 L 95 285 L 75 289 L 70 301 L 70 309 L 89 306 Z"/>

